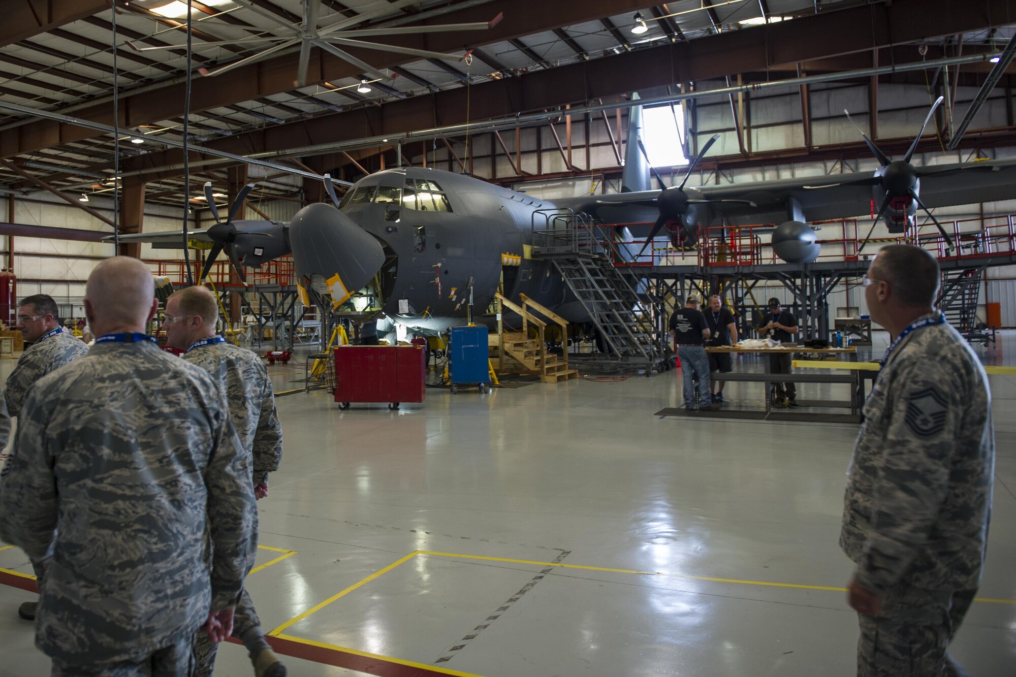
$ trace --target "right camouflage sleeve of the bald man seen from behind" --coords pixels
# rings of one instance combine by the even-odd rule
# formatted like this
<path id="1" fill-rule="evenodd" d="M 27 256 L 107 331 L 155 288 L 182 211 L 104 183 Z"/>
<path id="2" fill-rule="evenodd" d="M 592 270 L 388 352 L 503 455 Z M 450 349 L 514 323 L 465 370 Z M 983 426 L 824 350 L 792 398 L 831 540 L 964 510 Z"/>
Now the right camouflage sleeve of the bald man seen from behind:
<path id="1" fill-rule="evenodd" d="M 210 394 L 213 392 L 214 394 Z M 209 390 L 217 407 L 215 447 L 204 480 L 208 487 L 208 531 L 212 542 L 211 608 L 236 606 L 257 550 L 257 508 L 251 469 L 219 388 Z"/>

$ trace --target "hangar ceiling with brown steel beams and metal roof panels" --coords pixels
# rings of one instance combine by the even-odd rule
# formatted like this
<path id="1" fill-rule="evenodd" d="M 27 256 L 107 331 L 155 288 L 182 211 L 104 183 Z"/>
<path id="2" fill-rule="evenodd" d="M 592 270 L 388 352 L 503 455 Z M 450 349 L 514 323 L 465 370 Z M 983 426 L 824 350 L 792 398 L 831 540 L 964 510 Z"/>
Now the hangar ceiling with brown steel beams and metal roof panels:
<path id="1" fill-rule="evenodd" d="M 192 194 L 206 180 L 225 182 L 236 164 L 202 156 L 201 147 L 325 172 L 351 162 L 318 150 L 328 143 L 460 124 L 467 115 L 477 122 L 617 101 L 634 89 L 726 75 L 760 81 L 799 68 L 816 73 L 916 61 L 917 43 L 929 46 L 929 59 L 973 54 L 1005 44 L 1012 36 L 1006 26 L 1016 22 L 1004 0 L 310 2 L 316 25 L 340 22 L 362 32 L 343 38 L 400 51 L 332 45 L 343 57 L 327 47 L 305 49 L 300 86 L 304 2 L 193 0 Z M 112 0 L 9 4 L 0 24 L 2 101 L 113 125 L 116 100 L 116 123 L 142 133 L 144 142 L 121 136 L 115 143 L 109 133 L 0 110 L 0 191 L 42 184 L 69 193 L 112 191 L 118 146 L 125 186 L 146 184 L 148 201 L 179 205 L 183 156 L 166 143 L 183 140 L 186 0 L 116 0 L 115 15 Z M 631 32 L 636 12 L 647 27 L 639 35 Z M 463 22 L 492 25 L 386 35 Z M 277 36 L 297 42 L 271 40 Z M 268 47 L 278 49 L 263 53 Z M 467 52 L 471 63 L 461 58 Z M 220 69 L 227 70 L 214 74 Z M 964 67 L 974 80 L 989 70 L 990 64 Z M 370 91 L 358 91 L 363 80 Z M 300 196 L 299 177 L 268 171 L 258 180 L 263 197 Z"/>

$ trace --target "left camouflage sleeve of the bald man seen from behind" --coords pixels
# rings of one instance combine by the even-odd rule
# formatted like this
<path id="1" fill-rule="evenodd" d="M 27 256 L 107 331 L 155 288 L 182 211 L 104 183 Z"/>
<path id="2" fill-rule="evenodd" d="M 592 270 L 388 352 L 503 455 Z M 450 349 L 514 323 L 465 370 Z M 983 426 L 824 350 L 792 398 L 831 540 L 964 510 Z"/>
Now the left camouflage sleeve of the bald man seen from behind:
<path id="1" fill-rule="evenodd" d="M 0 538 L 33 560 L 46 557 L 57 527 L 57 487 L 46 429 L 48 410 L 29 394 L 17 438 L 0 473 Z M 7 422 L 8 433 L 10 422 Z"/>

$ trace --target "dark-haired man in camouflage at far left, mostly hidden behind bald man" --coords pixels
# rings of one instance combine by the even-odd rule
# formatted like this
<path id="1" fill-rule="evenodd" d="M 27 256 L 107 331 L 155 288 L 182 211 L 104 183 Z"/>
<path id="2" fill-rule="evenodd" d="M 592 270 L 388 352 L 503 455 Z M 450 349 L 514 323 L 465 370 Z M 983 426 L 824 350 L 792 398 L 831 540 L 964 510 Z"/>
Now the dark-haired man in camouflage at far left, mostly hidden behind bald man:
<path id="1" fill-rule="evenodd" d="M 88 352 L 84 342 L 60 326 L 58 313 L 56 301 L 46 294 L 22 299 L 17 309 L 17 328 L 31 346 L 21 354 L 21 359 L 7 377 L 4 396 L 12 417 L 21 413 L 24 395 L 36 381 Z M 33 559 L 31 568 L 37 581 L 41 580 L 46 573 L 46 562 Z M 36 602 L 22 603 L 17 610 L 18 616 L 35 620 L 36 606 Z"/>

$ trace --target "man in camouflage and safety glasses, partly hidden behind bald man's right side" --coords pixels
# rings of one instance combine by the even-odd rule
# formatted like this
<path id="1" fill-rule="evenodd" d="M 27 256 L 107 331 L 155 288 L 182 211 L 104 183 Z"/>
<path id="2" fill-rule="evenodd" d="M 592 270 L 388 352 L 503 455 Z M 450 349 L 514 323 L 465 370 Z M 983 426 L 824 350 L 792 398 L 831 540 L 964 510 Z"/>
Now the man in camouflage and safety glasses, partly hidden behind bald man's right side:
<path id="1" fill-rule="evenodd" d="M 282 456 L 282 426 L 268 371 L 252 351 L 233 346 L 215 334 L 215 297 L 204 287 L 188 287 L 166 302 L 166 335 L 185 349 L 184 360 L 211 374 L 226 391 L 233 422 L 254 467 L 254 494 L 268 495 L 268 473 L 278 470 Z M 261 619 L 244 590 L 237 605 L 234 634 L 244 642 L 256 677 L 284 677 L 285 666 L 268 647 Z M 211 675 L 217 645 L 199 632 L 195 639 L 196 677 Z"/>

